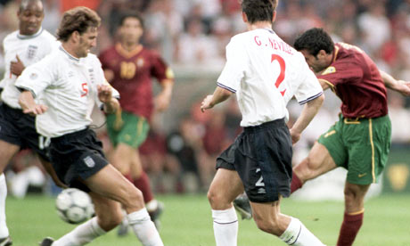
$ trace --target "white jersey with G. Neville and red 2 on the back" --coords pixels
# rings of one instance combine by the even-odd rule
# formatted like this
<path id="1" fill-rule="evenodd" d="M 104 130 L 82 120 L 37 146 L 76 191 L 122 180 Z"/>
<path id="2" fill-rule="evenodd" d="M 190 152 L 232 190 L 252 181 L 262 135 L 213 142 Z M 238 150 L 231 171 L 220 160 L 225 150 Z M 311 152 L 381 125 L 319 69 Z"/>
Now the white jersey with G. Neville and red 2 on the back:
<path id="1" fill-rule="evenodd" d="M 242 127 L 287 118 L 293 95 L 300 104 L 323 94 L 305 57 L 272 29 L 255 29 L 232 37 L 217 86 L 236 93 Z"/>

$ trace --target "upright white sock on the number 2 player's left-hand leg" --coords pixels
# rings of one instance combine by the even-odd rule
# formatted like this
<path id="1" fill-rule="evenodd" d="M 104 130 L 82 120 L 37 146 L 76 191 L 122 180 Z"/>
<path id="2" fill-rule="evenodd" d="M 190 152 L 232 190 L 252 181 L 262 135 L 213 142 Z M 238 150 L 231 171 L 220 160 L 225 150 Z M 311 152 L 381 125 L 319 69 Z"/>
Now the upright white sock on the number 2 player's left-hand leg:
<path id="1" fill-rule="evenodd" d="M 217 246 L 235 246 L 238 241 L 238 217 L 234 207 L 225 210 L 212 209 L 212 218 Z"/>

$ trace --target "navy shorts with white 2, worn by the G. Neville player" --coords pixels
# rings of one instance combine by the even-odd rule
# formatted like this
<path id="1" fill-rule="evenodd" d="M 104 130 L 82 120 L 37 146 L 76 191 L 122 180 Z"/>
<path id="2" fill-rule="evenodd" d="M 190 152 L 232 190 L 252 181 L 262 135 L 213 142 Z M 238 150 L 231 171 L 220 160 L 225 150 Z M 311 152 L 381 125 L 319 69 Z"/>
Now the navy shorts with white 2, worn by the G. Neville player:
<path id="1" fill-rule="evenodd" d="M 217 158 L 217 168 L 236 170 L 250 201 L 278 201 L 291 194 L 292 145 L 283 119 L 245 127 Z"/>

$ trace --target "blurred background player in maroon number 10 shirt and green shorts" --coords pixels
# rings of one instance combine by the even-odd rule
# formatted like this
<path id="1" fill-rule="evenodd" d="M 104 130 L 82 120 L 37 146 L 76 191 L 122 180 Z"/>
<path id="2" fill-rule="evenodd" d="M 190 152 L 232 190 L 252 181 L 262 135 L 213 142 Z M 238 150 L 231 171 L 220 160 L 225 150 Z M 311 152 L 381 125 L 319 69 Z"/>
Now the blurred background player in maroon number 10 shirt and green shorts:
<path id="1" fill-rule="evenodd" d="M 108 134 L 115 147 L 111 162 L 143 192 L 146 208 L 158 225 L 162 204 L 153 197 L 138 147 L 147 137 L 152 112 L 168 108 L 174 75 L 158 53 L 143 47 L 142 35 L 143 19 L 135 13 L 124 15 L 119 23 L 119 43 L 102 52 L 100 60 L 105 78 L 119 91 L 122 109 L 107 115 Z M 152 78 L 162 87 L 155 100 Z"/>

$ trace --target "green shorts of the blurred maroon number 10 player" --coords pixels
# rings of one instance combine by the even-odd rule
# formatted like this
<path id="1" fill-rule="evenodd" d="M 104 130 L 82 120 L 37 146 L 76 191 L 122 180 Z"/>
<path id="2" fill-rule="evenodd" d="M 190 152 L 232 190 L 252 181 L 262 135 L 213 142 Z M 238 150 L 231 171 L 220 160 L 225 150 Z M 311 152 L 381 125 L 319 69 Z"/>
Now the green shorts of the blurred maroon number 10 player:
<path id="1" fill-rule="evenodd" d="M 107 115 L 107 131 L 111 143 L 114 146 L 126 143 L 135 149 L 138 148 L 147 138 L 150 129 L 148 121 L 126 111 L 121 112 L 122 126 L 116 126 L 116 119 L 115 114 Z"/>

